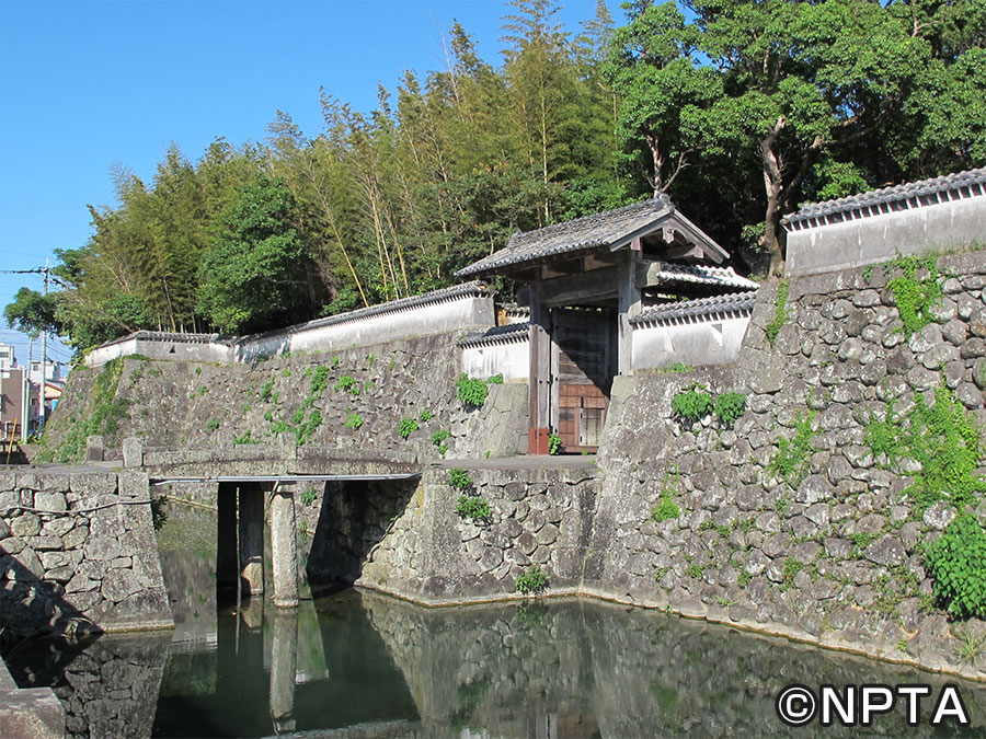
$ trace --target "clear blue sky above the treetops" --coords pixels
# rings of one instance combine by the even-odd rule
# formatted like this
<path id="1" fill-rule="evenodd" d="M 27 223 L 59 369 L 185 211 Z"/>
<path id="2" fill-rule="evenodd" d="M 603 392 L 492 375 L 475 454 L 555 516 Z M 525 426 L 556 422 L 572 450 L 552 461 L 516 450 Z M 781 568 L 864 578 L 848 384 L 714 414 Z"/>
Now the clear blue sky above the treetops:
<path id="1" fill-rule="evenodd" d="M 595 14 L 595 0 L 562 4 L 573 32 Z M 445 67 L 454 19 L 498 63 L 508 10 L 501 0 L 0 0 L 0 269 L 84 244 L 87 204 L 114 204 L 114 163 L 149 182 L 171 141 L 195 160 L 220 136 L 263 139 L 278 109 L 316 134 L 320 86 L 372 108 L 378 82 L 393 90 L 405 69 Z M 41 289 L 0 274 L 0 308 L 24 285 Z M 26 338 L 2 320 L 0 342 L 26 361 Z"/>

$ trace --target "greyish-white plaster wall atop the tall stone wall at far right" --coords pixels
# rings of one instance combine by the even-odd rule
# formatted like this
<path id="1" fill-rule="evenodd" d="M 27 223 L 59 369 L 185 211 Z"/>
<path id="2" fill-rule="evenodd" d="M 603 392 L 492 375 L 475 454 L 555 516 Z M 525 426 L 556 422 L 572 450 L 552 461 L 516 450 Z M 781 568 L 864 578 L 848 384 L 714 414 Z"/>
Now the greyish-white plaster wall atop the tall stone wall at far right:
<path id="1" fill-rule="evenodd" d="M 789 275 L 814 275 L 986 242 L 986 197 L 921 206 L 788 232 Z"/>

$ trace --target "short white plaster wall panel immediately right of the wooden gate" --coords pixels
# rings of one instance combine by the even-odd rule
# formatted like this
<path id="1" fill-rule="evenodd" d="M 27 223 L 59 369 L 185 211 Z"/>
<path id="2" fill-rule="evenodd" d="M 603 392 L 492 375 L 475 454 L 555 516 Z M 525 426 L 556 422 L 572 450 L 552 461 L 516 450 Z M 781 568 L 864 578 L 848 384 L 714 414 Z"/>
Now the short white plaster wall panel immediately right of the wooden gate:
<path id="1" fill-rule="evenodd" d="M 736 359 L 749 316 L 670 326 L 634 326 L 630 369 L 668 367 L 675 362 L 701 367 Z"/>

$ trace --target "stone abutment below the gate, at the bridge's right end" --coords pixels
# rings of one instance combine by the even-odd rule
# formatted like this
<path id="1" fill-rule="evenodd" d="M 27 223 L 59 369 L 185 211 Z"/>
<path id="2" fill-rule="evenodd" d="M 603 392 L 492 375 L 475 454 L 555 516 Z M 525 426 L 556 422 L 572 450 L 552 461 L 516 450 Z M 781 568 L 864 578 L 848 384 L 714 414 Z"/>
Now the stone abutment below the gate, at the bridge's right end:
<path id="1" fill-rule="evenodd" d="M 511 596 L 517 576 L 537 564 L 552 589 L 577 591 L 595 470 L 472 466 L 469 475 L 469 494 L 490 506 L 485 521 L 456 513 L 463 493 L 448 485 L 447 470 L 426 471 L 419 484 L 330 484 L 309 575 L 443 603 Z"/>

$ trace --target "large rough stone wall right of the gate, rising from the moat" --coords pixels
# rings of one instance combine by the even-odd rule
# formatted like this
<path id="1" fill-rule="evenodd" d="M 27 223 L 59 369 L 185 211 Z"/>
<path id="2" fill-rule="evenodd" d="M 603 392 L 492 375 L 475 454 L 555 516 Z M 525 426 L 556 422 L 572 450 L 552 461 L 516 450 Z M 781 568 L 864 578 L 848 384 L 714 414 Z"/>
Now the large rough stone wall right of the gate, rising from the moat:
<path id="1" fill-rule="evenodd" d="M 953 637 L 986 624 L 948 622 L 920 555 L 956 511 L 919 507 L 906 494 L 915 463 L 887 464 L 864 441 L 887 402 L 904 414 L 940 383 L 984 417 L 986 255 L 939 268 L 945 295 L 909 338 L 883 269 L 858 269 L 792 280 L 772 346 L 777 285 L 761 288 L 734 366 L 618 378 L 594 521 L 606 556 L 586 589 L 984 677 L 986 656 L 970 663 Z M 683 423 L 672 400 L 695 382 L 745 393 L 745 415 Z M 771 460 L 799 422 L 807 466 L 789 483 Z M 657 522 L 662 490 L 680 513 Z"/>

